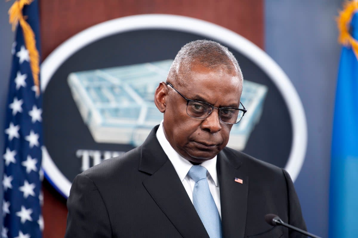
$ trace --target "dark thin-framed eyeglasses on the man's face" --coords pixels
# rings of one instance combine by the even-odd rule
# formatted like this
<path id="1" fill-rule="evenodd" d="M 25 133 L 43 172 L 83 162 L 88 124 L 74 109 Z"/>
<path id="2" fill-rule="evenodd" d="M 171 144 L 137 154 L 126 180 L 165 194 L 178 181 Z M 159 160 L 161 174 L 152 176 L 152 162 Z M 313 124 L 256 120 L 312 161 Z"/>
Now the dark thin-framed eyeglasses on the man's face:
<path id="1" fill-rule="evenodd" d="M 188 99 L 184 97 L 183 94 L 181 94 L 178 90 L 176 90 L 170 83 L 166 83 L 166 85 L 170 85 L 170 87 L 172 87 L 177 93 L 179 93 L 180 96 L 187 100 L 187 114 L 190 117 L 204 119 L 210 115 L 214 108 L 217 108 L 219 110 L 220 121 L 226 124 L 236 124 L 240 122 L 241 118 L 247 112 L 246 108 L 244 107 L 244 105 L 242 105 L 241 102 L 240 104 L 242 105 L 243 109 L 232 107 L 214 107 L 213 105 L 210 105 L 206 102 Z"/>

